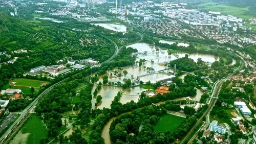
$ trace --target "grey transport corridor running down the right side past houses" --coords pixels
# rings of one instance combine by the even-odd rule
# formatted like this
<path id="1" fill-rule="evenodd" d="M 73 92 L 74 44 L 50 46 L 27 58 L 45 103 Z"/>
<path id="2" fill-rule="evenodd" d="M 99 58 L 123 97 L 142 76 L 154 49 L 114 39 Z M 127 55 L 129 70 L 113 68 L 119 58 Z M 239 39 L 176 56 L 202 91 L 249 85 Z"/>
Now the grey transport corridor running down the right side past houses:
<path id="1" fill-rule="evenodd" d="M 246 65 L 245 61 L 243 60 L 242 57 L 240 57 L 241 59 L 241 65 L 240 67 L 235 70 L 232 74 L 228 75 L 227 77 L 219 80 L 219 83 L 217 83 L 216 87 L 214 88 L 213 92 L 212 92 L 212 97 L 214 98 L 211 98 L 210 100 L 210 103 L 208 104 L 208 108 L 207 110 L 204 112 L 204 114 L 198 119 L 197 123 L 194 125 L 193 128 L 190 129 L 190 131 L 186 134 L 186 136 L 181 140 L 180 143 L 185 143 L 186 140 L 188 140 L 188 138 L 190 137 L 190 135 L 193 133 L 193 131 L 200 125 L 200 123 L 202 122 L 203 118 L 210 113 L 212 107 L 215 105 L 216 103 L 216 100 L 218 98 L 218 95 L 219 95 L 219 90 L 221 88 L 221 85 L 224 81 L 226 81 L 228 79 L 229 76 L 233 75 L 234 73 L 236 73 L 236 71 L 241 71 L 243 69 L 243 67 Z M 208 115 L 209 116 L 209 115 Z M 205 126 L 207 126 L 207 123 L 205 123 Z M 195 134 L 197 136 L 197 133 Z M 196 138 L 196 136 L 193 136 L 191 138 L 191 140 L 189 140 L 189 142 L 192 142 L 194 138 Z"/>

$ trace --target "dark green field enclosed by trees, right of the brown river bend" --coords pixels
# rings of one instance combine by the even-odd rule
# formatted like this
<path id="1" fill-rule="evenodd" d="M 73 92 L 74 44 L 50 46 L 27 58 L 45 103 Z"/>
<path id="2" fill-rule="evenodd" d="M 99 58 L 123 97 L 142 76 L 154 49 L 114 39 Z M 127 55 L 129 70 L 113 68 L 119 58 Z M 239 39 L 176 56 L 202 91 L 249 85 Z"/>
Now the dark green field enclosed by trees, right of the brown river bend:
<path id="1" fill-rule="evenodd" d="M 157 124 L 154 126 L 155 131 L 170 131 L 171 133 L 176 129 L 176 127 L 182 123 L 184 117 L 172 115 L 172 114 L 165 114 L 160 117 Z"/>

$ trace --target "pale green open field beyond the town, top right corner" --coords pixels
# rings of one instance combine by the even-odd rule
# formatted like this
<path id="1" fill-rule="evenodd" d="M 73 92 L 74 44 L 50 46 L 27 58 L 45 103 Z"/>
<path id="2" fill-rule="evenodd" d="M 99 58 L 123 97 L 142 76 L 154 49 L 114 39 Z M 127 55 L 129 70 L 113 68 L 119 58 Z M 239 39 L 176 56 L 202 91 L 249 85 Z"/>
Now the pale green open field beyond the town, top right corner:
<path id="1" fill-rule="evenodd" d="M 221 12 L 223 15 L 230 14 L 244 19 L 255 18 L 255 16 L 245 14 L 246 11 L 249 11 L 248 7 L 234 7 L 214 2 L 199 4 L 197 6 L 208 11 Z"/>

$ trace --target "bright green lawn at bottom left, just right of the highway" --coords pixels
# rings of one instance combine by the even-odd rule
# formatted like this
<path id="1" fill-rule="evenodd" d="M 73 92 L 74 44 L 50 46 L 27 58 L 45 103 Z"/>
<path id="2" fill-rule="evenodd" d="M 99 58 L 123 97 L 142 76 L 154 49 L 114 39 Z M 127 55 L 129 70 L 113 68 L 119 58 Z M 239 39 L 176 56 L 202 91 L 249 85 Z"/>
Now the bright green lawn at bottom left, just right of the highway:
<path id="1" fill-rule="evenodd" d="M 32 143 L 40 143 L 41 138 L 48 138 L 48 132 L 46 130 L 46 126 L 41 122 L 41 119 L 37 116 L 37 114 L 32 114 L 28 121 L 22 128 L 22 133 L 30 133 L 27 139 L 28 144 Z"/>

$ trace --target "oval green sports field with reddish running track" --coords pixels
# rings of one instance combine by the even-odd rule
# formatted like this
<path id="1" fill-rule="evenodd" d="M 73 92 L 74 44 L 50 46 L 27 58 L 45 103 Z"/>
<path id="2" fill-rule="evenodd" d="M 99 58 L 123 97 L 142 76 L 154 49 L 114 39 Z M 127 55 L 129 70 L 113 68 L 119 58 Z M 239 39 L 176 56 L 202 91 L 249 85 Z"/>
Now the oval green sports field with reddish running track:
<path id="1" fill-rule="evenodd" d="M 40 86 L 46 85 L 48 83 L 49 82 L 46 82 L 46 81 L 31 80 L 31 79 L 14 79 L 9 82 L 9 84 L 13 86 L 34 87 L 34 88 L 39 88 Z"/>

